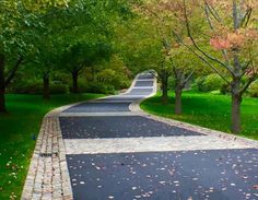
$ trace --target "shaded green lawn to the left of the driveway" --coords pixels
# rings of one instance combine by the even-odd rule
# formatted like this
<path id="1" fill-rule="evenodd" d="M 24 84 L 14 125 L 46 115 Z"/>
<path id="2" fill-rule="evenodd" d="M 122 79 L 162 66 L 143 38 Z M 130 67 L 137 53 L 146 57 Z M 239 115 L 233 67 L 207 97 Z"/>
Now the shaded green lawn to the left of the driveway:
<path id="1" fill-rule="evenodd" d="M 9 114 L 0 115 L 0 199 L 20 199 L 40 122 L 61 105 L 96 98 L 99 94 L 7 95 Z"/>

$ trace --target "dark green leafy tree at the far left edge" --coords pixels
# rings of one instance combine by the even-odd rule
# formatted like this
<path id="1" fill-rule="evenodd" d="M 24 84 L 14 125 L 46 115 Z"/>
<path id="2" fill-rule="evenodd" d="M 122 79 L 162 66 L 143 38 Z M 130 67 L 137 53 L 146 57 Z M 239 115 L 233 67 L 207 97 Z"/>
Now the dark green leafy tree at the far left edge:
<path id="1" fill-rule="evenodd" d="M 49 8 L 67 5 L 64 0 L 54 4 L 49 1 L 0 1 L 0 113 L 5 113 L 5 89 L 22 63 L 30 61 L 35 52 L 38 30 L 44 26 L 42 17 Z"/>

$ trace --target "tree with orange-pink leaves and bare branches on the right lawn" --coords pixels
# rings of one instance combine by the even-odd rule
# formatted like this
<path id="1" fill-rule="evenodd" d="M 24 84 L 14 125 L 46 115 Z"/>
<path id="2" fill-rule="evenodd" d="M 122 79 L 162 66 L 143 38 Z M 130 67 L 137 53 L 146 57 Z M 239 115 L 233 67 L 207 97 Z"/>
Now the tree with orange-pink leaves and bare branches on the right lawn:
<path id="1" fill-rule="evenodd" d="M 202 61 L 208 63 L 221 78 L 231 85 L 232 96 L 232 132 L 241 131 L 241 103 L 243 94 L 257 79 L 257 8 L 256 1 L 203 1 L 186 4 L 183 1 L 183 13 L 189 39 L 195 49 L 189 48 Z M 196 11 L 202 11 L 196 15 Z M 232 12 L 228 15 L 228 11 Z M 197 33 L 192 23 L 196 19 L 204 20 L 203 34 Z M 191 19 L 191 20 L 190 20 Z M 201 38 L 202 37 L 202 38 Z M 198 43 L 199 40 L 199 43 Z M 201 46 L 210 45 L 210 49 Z M 221 52 L 219 55 L 218 52 Z M 226 72 L 226 75 L 223 74 Z M 227 77 L 231 77 L 228 80 Z M 247 80 L 245 84 L 243 80 Z"/>

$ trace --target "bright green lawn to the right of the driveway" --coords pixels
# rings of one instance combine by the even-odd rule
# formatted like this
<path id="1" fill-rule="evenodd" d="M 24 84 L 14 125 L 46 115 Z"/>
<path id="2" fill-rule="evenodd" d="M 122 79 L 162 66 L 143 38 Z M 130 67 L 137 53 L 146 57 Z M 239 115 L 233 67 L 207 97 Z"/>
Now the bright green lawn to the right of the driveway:
<path id="1" fill-rule="evenodd" d="M 231 97 L 210 93 L 184 92 L 183 115 L 174 115 L 174 92 L 169 93 L 169 104 L 162 105 L 160 93 L 145 99 L 141 108 L 154 115 L 173 118 L 201 127 L 230 132 Z M 242 132 L 258 140 L 258 98 L 244 97 L 242 103 Z"/>

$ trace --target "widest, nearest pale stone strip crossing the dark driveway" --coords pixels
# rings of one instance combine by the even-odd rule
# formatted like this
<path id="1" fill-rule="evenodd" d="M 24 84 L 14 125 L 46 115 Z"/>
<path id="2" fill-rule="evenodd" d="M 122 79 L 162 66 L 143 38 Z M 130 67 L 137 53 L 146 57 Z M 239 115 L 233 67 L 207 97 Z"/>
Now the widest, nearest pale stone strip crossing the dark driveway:
<path id="1" fill-rule="evenodd" d="M 213 137 L 152 137 L 116 139 L 64 139 L 67 154 L 165 152 L 245 149 L 245 144 Z M 250 146 L 251 148 L 251 146 Z"/>

